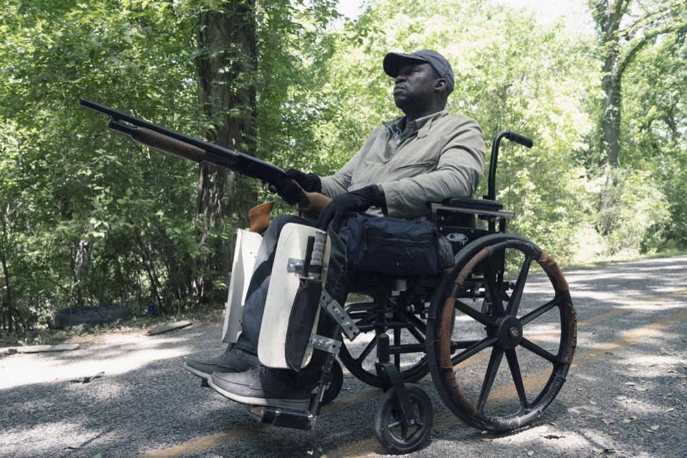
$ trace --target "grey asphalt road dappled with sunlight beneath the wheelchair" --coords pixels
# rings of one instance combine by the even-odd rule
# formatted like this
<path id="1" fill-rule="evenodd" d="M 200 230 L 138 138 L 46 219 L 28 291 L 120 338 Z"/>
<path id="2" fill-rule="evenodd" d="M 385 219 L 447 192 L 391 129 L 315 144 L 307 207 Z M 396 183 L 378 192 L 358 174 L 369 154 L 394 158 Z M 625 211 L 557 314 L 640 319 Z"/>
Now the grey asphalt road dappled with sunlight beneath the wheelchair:
<path id="1" fill-rule="evenodd" d="M 444 407 L 410 457 L 687 457 L 687 257 L 565 273 L 578 347 L 543 417 L 485 434 Z M 221 352 L 221 317 L 158 336 L 73 339 L 78 350 L 0 356 L 0 457 L 348 457 L 384 455 L 381 391 L 346 373 L 315 431 L 274 428 L 200 387 L 191 354 Z M 85 377 L 88 383 L 74 382 Z"/>

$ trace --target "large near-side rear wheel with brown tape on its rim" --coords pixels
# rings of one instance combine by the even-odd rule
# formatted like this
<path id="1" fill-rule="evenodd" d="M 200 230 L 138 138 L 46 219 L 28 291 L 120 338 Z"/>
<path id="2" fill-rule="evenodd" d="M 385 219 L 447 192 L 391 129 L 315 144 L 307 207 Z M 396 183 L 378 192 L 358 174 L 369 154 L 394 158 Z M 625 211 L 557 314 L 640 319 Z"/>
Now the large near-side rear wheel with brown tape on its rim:
<path id="1" fill-rule="evenodd" d="M 525 238 L 497 233 L 466 245 L 429 317 L 434 384 L 466 424 L 493 432 L 523 426 L 565 382 L 575 310 L 559 266 Z"/>

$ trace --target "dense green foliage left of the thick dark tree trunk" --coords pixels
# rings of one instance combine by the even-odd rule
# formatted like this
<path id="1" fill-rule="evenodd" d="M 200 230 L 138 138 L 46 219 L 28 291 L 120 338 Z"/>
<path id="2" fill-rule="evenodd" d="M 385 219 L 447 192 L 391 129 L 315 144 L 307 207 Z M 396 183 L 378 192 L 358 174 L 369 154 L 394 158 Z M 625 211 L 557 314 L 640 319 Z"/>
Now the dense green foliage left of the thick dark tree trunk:
<path id="1" fill-rule="evenodd" d="M 171 3 L 10 1 L 4 9 L 0 201 L 22 215 L 5 225 L 13 241 L 3 250 L 13 293 L 5 321 L 30 325 L 65 306 L 140 312 L 153 301 L 165 310 L 183 303 L 188 273 L 178 266 L 188 264 L 194 173 L 110 136 L 105 119 L 78 106 L 80 96 L 137 106 L 142 117 L 190 130 L 193 67 Z"/>

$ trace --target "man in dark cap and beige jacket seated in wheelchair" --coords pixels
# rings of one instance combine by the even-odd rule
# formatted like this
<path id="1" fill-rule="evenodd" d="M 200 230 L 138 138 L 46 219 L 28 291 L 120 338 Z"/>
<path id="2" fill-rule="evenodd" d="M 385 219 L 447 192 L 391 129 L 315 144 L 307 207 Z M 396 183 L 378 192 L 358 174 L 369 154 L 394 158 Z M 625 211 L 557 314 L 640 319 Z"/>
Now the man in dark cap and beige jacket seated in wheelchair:
<path id="1" fill-rule="evenodd" d="M 330 252 L 324 289 L 343 304 L 356 275 L 346 259 L 350 216 L 364 213 L 423 218 L 428 203 L 471 197 L 477 190 L 486 154 L 482 130 L 474 119 L 445 111 L 455 84 L 447 59 L 426 49 L 412 54 L 389 53 L 383 70 L 395 78 L 394 102 L 403 116 L 372 130 L 361 149 L 331 176 L 287 172 L 295 183 L 280 191 L 286 202 L 294 205 L 302 201 L 304 192 L 324 194 L 332 198 L 331 202 L 317 221 L 289 215 L 270 223 L 248 284 L 243 328 L 236 343 L 230 343 L 215 358 L 188 358 L 185 362 L 188 371 L 229 399 L 307 409 L 315 374 L 326 356 L 315 350 L 308 365 L 300 370 L 267 367 L 258 358 L 275 251 L 284 226 L 296 222 L 327 232 Z M 335 322 L 322 314 L 318 334 L 330 335 L 334 329 Z M 309 335 L 310 331 L 306 332 Z"/>

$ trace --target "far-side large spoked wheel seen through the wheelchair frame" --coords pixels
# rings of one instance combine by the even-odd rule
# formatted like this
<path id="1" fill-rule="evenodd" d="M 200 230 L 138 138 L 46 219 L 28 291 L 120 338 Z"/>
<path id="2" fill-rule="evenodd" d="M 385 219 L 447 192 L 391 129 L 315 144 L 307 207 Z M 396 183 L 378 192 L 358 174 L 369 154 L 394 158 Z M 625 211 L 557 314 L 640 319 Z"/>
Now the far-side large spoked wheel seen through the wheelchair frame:
<path id="1" fill-rule="evenodd" d="M 376 321 L 374 310 L 357 310 L 350 312 L 351 318 L 361 333 L 352 342 L 344 342 L 339 350 L 339 359 L 346 369 L 359 380 L 381 388 L 374 363 L 377 358 Z M 412 311 L 395 310 L 386 322 L 387 334 L 390 334 L 392 360 L 404 382 L 417 382 L 429 374 L 429 365 L 425 357 L 425 332 L 427 326 Z"/>

